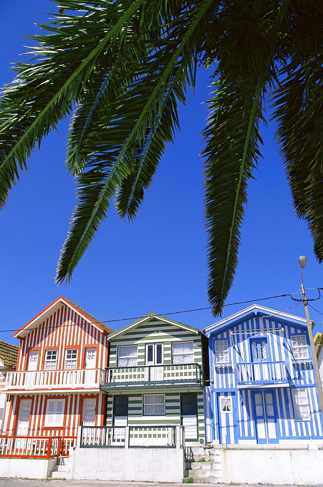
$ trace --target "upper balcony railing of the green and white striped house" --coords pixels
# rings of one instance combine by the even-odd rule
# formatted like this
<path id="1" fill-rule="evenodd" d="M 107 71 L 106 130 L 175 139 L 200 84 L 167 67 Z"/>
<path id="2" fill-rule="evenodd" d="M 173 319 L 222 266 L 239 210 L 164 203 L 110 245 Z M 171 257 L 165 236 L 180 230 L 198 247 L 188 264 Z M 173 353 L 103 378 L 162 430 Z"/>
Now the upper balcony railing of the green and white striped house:
<path id="1" fill-rule="evenodd" d="M 199 364 L 143 365 L 137 367 L 108 367 L 105 387 L 121 384 L 201 383 Z"/>

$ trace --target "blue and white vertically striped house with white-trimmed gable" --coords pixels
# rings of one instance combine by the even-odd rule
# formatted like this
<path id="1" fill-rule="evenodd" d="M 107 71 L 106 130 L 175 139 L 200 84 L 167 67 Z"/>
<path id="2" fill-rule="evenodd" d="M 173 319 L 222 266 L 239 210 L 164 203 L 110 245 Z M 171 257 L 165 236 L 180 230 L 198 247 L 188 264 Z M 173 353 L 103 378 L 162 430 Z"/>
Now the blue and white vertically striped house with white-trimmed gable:
<path id="1" fill-rule="evenodd" d="M 323 439 L 304 318 L 252 305 L 203 331 L 210 351 L 207 441 L 248 445 Z"/>

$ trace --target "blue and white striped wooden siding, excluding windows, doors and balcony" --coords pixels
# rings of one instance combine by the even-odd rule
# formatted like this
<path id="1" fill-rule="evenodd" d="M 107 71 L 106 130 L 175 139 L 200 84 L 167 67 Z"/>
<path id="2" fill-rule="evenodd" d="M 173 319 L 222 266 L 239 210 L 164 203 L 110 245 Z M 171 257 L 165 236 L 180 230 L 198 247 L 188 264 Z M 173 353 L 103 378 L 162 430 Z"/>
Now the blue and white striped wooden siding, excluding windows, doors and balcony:
<path id="1" fill-rule="evenodd" d="M 223 328 L 223 329 L 221 329 Z M 257 425 L 253 394 L 272 393 L 275 414 L 276 438 L 272 442 L 295 441 L 299 439 L 322 438 L 322 412 L 320 409 L 315 372 L 311 360 L 311 349 L 306 326 L 280 320 L 279 317 L 254 316 L 249 319 L 238 319 L 231 327 L 216 327 L 208 330 L 212 334 L 209 338 L 211 388 L 207 391 L 210 407 L 208 408 L 207 424 L 211 430 L 211 438 L 220 443 L 239 443 L 257 441 Z M 306 337 L 308 359 L 297 359 L 293 355 L 291 337 L 303 335 Z M 267 340 L 268 362 L 283 362 L 286 367 L 287 380 L 284 387 L 272 384 L 255 384 L 247 386 L 237 384 L 236 365 L 252 363 L 252 339 Z M 228 340 L 229 363 L 216 364 L 215 341 Z M 262 363 L 266 363 L 266 360 Z M 254 362 L 256 363 L 256 362 Z M 286 363 L 286 366 L 285 366 Z M 308 398 L 310 418 L 296 419 L 292 391 L 303 388 Z M 231 397 L 233 411 L 221 414 L 219 397 Z"/>

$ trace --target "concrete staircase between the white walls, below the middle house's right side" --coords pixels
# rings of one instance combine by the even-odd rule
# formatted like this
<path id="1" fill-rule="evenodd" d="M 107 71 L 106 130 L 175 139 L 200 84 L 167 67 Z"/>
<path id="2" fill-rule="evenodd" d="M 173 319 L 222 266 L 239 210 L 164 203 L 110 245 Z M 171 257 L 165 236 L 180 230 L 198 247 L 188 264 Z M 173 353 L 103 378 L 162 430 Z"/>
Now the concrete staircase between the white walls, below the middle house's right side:
<path id="1" fill-rule="evenodd" d="M 194 483 L 218 484 L 222 482 L 221 453 L 205 447 L 185 448 L 185 479 Z"/>

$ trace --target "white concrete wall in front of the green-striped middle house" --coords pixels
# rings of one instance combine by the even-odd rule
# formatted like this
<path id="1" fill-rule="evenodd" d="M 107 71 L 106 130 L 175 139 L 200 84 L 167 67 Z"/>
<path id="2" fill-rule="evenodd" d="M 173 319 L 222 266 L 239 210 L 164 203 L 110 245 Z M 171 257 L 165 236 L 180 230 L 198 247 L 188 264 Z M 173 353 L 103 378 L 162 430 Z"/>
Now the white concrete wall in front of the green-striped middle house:
<path id="1" fill-rule="evenodd" d="M 69 479 L 181 482 L 182 448 L 74 448 Z"/>

